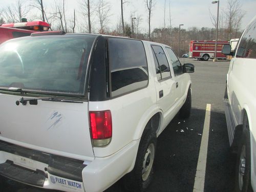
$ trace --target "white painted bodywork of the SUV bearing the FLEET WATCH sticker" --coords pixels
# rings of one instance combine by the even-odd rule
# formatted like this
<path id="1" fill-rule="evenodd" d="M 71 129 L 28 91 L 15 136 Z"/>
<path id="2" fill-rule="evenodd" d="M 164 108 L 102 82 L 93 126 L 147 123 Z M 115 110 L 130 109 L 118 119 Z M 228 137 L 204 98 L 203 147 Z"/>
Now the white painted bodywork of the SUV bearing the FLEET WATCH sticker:
<path id="1" fill-rule="evenodd" d="M 168 46 L 142 42 L 148 65 L 148 84 L 132 93 L 104 101 L 79 100 L 72 103 L 42 99 L 36 105 L 17 105 L 22 95 L 2 91 L 0 141 L 4 144 L 0 148 L 0 164 L 10 161 L 20 169 L 40 170 L 46 178 L 39 187 L 63 191 L 103 191 L 131 172 L 147 122 L 159 114 L 156 129 L 159 136 L 181 109 L 191 86 L 190 76 L 187 73 L 176 76 L 172 67 L 172 77 L 158 81 L 151 45 L 161 46 L 166 55 Z M 169 57 L 167 60 L 172 66 Z M 159 91 L 163 91 L 162 98 L 159 98 Z M 108 145 L 96 147 L 91 139 L 89 112 L 104 110 L 111 111 L 113 134 Z M 4 150 L 4 145 L 9 146 L 10 143 L 14 151 Z M 26 155 L 16 153 L 17 149 Z M 38 154 L 38 159 L 28 154 Z M 55 169 L 51 168 L 50 171 L 48 160 L 40 160 L 41 156 L 45 159 L 56 156 L 51 162 L 52 167 L 60 170 L 55 161 L 62 163 L 69 158 L 74 159 L 74 165 L 77 163 L 81 166 L 82 179 L 78 181 L 72 179 L 73 176 L 65 177 L 58 171 L 59 175 L 52 174 L 56 173 Z"/>

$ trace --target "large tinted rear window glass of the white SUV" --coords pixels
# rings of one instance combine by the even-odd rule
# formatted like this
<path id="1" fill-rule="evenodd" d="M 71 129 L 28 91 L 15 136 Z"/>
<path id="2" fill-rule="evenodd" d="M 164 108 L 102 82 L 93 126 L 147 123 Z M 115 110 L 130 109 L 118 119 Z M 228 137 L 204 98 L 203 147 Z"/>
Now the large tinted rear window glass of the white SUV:
<path id="1" fill-rule="evenodd" d="M 0 46 L 0 87 L 83 94 L 96 36 L 48 35 L 14 39 Z"/>

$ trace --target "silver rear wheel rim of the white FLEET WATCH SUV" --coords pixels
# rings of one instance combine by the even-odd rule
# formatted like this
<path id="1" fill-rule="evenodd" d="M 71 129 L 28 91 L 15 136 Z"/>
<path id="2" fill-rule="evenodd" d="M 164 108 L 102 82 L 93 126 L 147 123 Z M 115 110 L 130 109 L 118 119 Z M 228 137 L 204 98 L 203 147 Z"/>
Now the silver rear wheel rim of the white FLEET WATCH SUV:
<path id="1" fill-rule="evenodd" d="M 142 180 L 145 181 L 147 180 L 148 176 L 150 176 L 151 169 L 153 166 L 155 158 L 155 145 L 154 143 L 151 143 L 148 145 L 144 160 L 143 160 L 143 165 L 142 165 Z"/>

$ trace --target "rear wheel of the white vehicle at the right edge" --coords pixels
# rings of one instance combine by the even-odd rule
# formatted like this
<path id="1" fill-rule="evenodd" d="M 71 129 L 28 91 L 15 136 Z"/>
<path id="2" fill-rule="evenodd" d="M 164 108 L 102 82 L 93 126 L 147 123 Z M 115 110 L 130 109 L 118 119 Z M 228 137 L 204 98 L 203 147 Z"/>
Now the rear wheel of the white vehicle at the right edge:
<path id="1" fill-rule="evenodd" d="M 250 131 L 247 116 L 243 122 L 243 134 L 238 148 L 238 156 L 236 163 L 236 192 L 250 192 L 250 168 L 251 168 L 251 154 L 250 154 Z"/>

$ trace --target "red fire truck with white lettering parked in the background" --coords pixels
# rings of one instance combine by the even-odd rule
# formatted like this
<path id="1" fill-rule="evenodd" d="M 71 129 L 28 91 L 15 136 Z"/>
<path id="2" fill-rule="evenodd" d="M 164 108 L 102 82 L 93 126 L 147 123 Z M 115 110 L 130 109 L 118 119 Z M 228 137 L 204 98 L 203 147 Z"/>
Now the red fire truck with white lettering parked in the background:
<path id="1" fill-rule="evenodd" d="M 191 40 L 189 42 L 190 58 L 198 58 L 199 60 L 209 60 L 215 57 L 216 41 L 198 41 Z M 223 45 L 229 45 L 229 41 L 217 41 L 217 59 L 226 59 L 226 55 L 221 53 Z"/>

